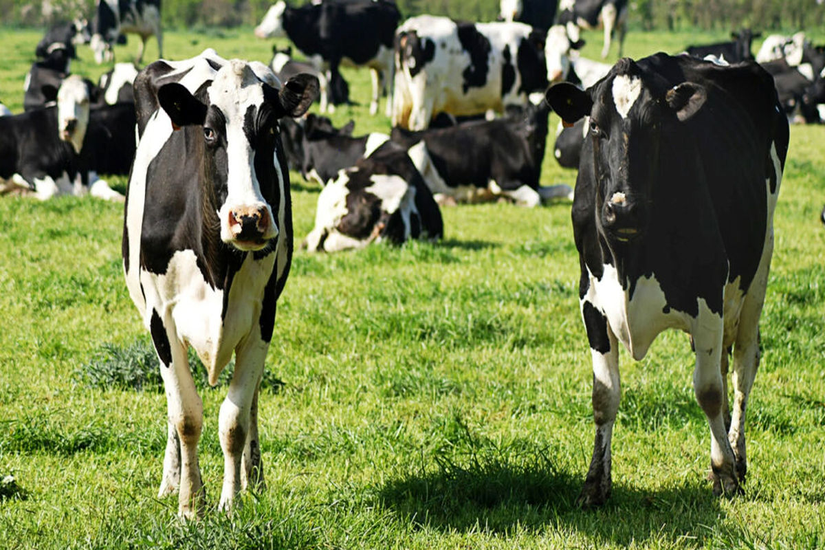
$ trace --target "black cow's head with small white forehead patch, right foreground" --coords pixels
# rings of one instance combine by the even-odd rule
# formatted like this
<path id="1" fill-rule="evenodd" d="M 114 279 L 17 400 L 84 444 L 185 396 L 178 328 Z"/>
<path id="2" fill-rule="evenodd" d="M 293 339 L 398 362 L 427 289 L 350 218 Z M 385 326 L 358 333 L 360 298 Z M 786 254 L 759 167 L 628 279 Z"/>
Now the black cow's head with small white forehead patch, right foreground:
<path id="1" fill-rule="evenodd" d="M 659 173 L 660 143 L 695 115 L 706 97 L 705 88 L 694 82 L 669 87 L 643 76 L 631 59 L 620 59 L 585 91 L 568 82 L 548 89 L 547 101 L 568 124 L 590 115 L 590 142 L 582 150 L 579 172 L 592 163 L 596 226 L 609 240 L 626 242 L 643 235 Z"/>

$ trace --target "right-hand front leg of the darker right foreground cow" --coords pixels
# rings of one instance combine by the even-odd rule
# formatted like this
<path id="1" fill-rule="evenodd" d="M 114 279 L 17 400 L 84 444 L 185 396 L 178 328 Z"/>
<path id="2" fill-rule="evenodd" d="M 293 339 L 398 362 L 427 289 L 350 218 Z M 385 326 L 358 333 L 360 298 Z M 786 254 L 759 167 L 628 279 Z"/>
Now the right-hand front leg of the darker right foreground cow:
<path id="1" fill-rule="evenodd" d="M 710 427 L 710 468 L 714 495 L 735 495 L 739 487 L 733 449 L 728 442 L 724 421 L 724 384 L 722 383 L 722 316 L 706 308 L 695 323 L 696 368 L 693 389 Z"/>

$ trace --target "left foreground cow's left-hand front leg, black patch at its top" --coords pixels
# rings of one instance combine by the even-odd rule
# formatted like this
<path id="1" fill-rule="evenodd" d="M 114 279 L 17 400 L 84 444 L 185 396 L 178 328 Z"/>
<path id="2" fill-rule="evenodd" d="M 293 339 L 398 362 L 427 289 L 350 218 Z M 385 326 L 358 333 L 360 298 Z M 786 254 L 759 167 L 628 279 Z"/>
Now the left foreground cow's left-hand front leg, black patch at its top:
<path id="1" fill-rule="evenodd" d="M 154 313 L 150 331 L 161 360 L 160 371 L 166 391 L 169 424 L 163 458 L 163 480 L 158 494 L 167 495 L 178 487 L 178 514 L 193 518 L 203 513 L 206 500 L 198 465 L 203 402 L 200 401 L 192 379 L 186 346 L 177 340 L 174 324 L 168 319 L 167 322 L 161 322 L 158 314 Z M 171 433 L 172 429 L 175 434 Z M 175 444 L 180 444 L 179 452 L 174 449 Z"/>

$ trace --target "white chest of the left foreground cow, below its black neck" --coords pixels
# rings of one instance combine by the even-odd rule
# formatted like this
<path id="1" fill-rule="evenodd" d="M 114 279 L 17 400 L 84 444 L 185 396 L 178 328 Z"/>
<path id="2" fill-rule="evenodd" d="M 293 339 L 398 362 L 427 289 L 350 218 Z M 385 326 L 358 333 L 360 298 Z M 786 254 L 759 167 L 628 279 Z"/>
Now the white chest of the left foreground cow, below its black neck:
<path id="1" fill-rule="evenodd" d="M 153 311 L 171 317 L 177 340 L 192 346 L 214 379 L 229 363 L 238 344 L 259 327 L 263 290 L 275 255 L 254 261 L 248 254 L 233 278 L 224 311 L 224 290 L 213 288 L 198 269 L 194 251 L 177 251 L 163 275 L 141 271 L 146 296 L 144 324 Z M 168 328 L 168 327 L 167 327 Z M 213 377 L 212 374 L 215 374 Z"/>

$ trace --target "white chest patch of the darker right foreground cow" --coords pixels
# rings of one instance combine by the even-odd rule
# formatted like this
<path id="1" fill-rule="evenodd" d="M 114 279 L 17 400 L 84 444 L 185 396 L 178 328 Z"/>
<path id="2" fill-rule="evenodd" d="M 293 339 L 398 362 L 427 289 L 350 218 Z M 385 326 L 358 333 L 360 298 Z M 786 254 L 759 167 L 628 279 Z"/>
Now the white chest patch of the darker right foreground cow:
<path id="1" fill-rule="evenodd" d="M 601 280 L 590 273 L 585 298 L 607 317 L 610 330 L 635 360 L 647 354 L 659 332 L 667 328 L 691 331 L 693 318 L 667 307 L 667 299 L 655 276 L 636 282 L 633 296 L 622 288 L 613 266 L 604 266 Z"/>

